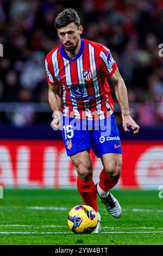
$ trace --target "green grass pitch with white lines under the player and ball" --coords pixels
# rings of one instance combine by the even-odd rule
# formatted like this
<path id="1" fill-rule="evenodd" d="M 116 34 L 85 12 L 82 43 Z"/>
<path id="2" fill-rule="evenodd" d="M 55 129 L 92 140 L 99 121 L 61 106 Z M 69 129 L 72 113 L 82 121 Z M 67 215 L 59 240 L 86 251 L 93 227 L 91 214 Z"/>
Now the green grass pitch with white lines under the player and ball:
<path id="1" fill-rule="evenodd" d="M 163 245 L 163 199 L 159 191 L 112 190 L 122 217 L 102 217 L 99 234 L 73 234 L 67 214 L 83 204 L 77 190 L 4 190 L 0 199 L 0 245 Z"/>

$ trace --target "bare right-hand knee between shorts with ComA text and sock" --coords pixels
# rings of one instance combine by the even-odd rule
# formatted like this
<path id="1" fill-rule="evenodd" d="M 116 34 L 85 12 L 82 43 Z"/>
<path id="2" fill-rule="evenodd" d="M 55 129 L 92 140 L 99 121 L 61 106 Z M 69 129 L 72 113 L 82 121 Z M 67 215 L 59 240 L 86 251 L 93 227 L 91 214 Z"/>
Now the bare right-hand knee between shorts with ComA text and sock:
<path id="1" fill-rule="evenodd" d="M 122 154 L 108 153 L 101 156 L 106 173 L 114 176 L 121 174 Z"/>

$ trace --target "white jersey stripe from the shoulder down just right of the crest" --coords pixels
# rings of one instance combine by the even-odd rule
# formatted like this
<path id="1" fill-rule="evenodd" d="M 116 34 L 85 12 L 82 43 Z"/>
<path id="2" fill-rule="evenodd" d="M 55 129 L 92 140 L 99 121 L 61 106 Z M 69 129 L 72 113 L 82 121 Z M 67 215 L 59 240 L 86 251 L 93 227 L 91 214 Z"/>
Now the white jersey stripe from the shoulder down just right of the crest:
<path id="1" fill-rule="evenodd" d="M 91 44 L 89 44 L 89 59 L 90 59 L 90 69 L 92 71 L 92 77 L 97 77 L 97 71 L 96 71 L 96 61 L 95 61 L 95 49 L 92 47 Z M 101 109 L 101 96 L 99 94 L 99 83 L 98 79 L 93 80 L 93 87 L 95 90 L 95 95 L 96 95 L 96 109 L 97 113 L 99 115 L 99 119 L 104 119 L 105 114 Z"/>

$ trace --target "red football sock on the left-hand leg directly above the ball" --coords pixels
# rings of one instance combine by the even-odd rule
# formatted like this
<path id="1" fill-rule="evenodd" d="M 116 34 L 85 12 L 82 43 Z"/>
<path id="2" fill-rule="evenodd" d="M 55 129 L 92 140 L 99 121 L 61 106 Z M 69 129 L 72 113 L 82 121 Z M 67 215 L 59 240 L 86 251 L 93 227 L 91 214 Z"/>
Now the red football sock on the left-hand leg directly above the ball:
<path id="1" fill-rule="evenodd" d="M 97 207 L 97 191 L 93 179 L 84 181 L 79 177 L 77 178 L 77 188 L 80 196 L 83 199 L 84 204 L 91 206 L 95 211 L 98 211 Z"/>

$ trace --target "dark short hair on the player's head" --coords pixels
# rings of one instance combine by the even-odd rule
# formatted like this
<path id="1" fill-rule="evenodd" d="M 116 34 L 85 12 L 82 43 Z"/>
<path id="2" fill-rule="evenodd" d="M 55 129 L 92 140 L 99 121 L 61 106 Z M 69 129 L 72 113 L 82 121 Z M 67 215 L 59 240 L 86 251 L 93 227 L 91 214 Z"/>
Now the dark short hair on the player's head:
<path id="1" fill-rule="evenodd" d="M 55 19 L 55 28 L 65 27 L 72 22 L 74 22 L 77 27 L 80 26 L 80 19 L 77 11 L 73 8 L 64 9 Z"/>

